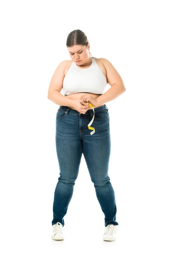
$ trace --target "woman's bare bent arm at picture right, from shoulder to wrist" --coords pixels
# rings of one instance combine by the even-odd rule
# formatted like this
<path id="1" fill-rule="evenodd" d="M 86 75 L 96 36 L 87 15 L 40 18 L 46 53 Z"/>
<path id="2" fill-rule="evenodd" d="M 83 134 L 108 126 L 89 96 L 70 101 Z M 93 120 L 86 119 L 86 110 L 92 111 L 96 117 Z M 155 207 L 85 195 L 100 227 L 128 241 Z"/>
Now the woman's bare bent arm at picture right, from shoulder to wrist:
<path id="1" fill-rule="evenodd" d="M 111 85 L 111 88 L 107 92 L 97 97 L 97 105 L 105 104 L 106 102 L 116 99 L 126 90 L 121 76 L 113 67 L 111 62 L 105 58 L 102 58 L 102 61 L 106 69 L 108 84 Z"/>

